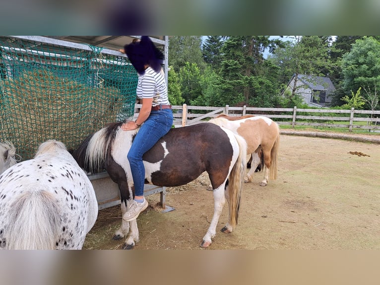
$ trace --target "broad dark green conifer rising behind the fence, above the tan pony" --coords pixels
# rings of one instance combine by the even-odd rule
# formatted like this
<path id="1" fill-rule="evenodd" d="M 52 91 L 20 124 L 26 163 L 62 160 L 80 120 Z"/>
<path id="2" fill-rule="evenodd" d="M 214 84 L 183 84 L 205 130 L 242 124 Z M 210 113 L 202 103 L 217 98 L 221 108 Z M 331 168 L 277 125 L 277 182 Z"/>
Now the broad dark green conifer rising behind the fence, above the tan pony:
<path id="1" fill-rule="evenodd" d="M 266 78 L 270 70 L 263 59 L 266 48 L 274 50 L 282 45 L 280 40 L 270 40 L 269 36 L 230 36 L 222 47 L 222 62 L 218 75 L 221 80 L 221 103 L 235 105 L 244 102 L 255 105 L 257 102 L 269 103 L 270 100 L 259 100 L 258 97 L 273 96 L 273 86 L 277 81 Z M 273 66 L 272 66 L 273 67 Z M 269 88 L 270 87 L 270 88 Z M 276 88 L 274 88 L 276 89 Z"/>

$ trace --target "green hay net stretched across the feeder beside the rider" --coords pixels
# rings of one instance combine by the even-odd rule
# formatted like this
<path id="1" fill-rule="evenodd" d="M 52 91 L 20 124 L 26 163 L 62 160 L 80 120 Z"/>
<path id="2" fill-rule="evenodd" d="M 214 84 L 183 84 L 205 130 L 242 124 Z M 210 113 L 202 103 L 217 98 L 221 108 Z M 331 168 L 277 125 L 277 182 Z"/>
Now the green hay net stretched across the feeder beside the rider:
<path id="1" fill-rule="evenodd" d="M 0 141 L 12 142 L 22 160 L 47 140 L 75 149 L 105 125 L 133 117 L 132 65 L 83 46 L 91 51 L 0 37 Z"/>

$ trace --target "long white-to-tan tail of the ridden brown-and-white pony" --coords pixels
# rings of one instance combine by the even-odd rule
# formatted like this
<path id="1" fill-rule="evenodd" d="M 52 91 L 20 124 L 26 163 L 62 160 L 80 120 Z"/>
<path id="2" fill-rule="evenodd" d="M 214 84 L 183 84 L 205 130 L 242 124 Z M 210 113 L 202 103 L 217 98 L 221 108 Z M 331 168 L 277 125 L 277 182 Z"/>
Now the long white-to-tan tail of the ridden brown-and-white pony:
<path id="1" fill-rule="evenodd" d="M 238 225 L 239 209 L 240 209 L 240 196 L 244 186 L 244 176 L 247 167 L 247 143 L 239 135 L 235 135 L 239 144 L 239 156 L 233 166 L 227 190 L 227 202 L 229 207 L 229 224 L 234 229 Z"/>

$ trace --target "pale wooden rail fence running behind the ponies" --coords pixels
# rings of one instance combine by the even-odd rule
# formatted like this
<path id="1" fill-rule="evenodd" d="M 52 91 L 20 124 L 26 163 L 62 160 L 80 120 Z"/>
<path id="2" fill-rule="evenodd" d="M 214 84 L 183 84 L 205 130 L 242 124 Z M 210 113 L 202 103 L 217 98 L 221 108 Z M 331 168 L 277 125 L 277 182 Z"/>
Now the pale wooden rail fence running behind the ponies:
<path id="1" fill-rule="evenodd" d="M 136 104 L 136 112 L 141 108 Z M 134 114 L 137 118 L 138 113 Z M 219 114 L 242 116 L 246 114 L 260 115 L 271 118 L 279 125 L 380 130 L 380 111 L 370 110 L 334 110 L 334 109 L 297 109 L 294 108 L 255 108 L 255 107 L 209 107 L 188 106 L 186 104 L 173 106 L 174 126 L 194 125 L 216 117 Z"/>

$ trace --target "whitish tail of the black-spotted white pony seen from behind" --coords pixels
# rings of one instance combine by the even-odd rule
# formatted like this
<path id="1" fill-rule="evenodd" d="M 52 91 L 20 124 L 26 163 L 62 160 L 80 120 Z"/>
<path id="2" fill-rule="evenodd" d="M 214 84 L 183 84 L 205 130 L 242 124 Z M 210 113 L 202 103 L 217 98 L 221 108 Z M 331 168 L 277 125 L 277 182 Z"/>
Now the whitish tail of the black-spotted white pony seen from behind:
<path id="1" fill-rule="evenodd" d="M 44 190 L 21 194 L 11 205 L 7 249 L 55 249 L 59 238 L 60 207 Z"/>

